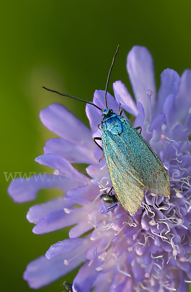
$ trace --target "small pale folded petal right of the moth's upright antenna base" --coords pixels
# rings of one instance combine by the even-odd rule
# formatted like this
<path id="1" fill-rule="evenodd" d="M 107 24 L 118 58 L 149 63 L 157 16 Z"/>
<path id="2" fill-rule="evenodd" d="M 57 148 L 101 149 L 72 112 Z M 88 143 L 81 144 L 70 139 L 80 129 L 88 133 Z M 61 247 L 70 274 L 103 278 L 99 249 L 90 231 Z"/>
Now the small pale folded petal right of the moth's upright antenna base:
<path id="1" fill-rule="evenodd" d="M 127 88 L 121 81 L 116 81 L 113 83 L 113 91 L 115 98 L 121 107 L 127 112 L 136 116 L 138 114 L 138 108 L 135 104 L 133 98 L 130 93 L 127 91 Z"/>

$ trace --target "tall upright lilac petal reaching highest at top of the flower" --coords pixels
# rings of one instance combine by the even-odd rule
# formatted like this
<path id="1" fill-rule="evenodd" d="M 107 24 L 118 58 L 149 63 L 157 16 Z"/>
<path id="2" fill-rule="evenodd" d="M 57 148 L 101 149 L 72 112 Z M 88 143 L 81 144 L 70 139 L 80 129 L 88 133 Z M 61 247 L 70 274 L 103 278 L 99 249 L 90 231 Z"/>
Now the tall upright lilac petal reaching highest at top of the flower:
<path id="1" fill-rule="evenodd" d="M 151 103 L 156 98 L 156 85 L 154 78 L 153 59 L 150 52 L 141 46 L 134 46 L 127 55 L 127 72 L 131 81 L 136 101 L 143 105 L 148 119 L 148 99 L 146 91 L 153 92 Z"/>

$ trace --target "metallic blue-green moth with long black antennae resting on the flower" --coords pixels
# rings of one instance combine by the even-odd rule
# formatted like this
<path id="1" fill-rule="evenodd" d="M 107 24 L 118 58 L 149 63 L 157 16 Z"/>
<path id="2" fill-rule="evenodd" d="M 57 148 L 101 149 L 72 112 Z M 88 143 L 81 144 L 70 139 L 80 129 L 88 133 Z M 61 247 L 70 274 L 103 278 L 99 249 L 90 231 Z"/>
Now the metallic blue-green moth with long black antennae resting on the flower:
<path id="1" fill-rule="evenodd" d="M 143 201 L 145 190 L 167 197 L 171 193 L 171 182 L 159 157 L 144 140 L 141 132 L 138 132 L 141 127 L 134 128 L 121 115 L 123 110 L 116 114 L 108 109 L 106 95 L 118 50 L 119 46 L 113 57 L 106 83 L 105 110 L 93 102 L 43 88 L 91 104 L 102 111 L 101 138 L 95 137 L 94 141 L 101 149 L 96 140 L 102 141 L 102 150 L 117 200 L 127 212 L 134 214 Z"/>

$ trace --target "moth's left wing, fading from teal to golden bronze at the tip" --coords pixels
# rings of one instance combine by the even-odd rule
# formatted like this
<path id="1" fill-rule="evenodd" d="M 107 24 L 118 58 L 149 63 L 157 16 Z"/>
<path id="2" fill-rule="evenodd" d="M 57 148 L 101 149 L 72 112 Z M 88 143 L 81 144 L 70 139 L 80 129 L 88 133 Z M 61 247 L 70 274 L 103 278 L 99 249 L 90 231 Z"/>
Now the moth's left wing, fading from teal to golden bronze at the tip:
<path id="1" fill-rule="evenodd" d="M 113 141 L 113 136 L 118 141 Z M 126 151 L 121 151 L 119 143 L 119 136 L 102 133 L 106 164 L 117 199 L 125 210 L 135 213 L 143 201 L 145 186 L 138 179 L 136 170 L 128 164 L 124 155 Z"/>

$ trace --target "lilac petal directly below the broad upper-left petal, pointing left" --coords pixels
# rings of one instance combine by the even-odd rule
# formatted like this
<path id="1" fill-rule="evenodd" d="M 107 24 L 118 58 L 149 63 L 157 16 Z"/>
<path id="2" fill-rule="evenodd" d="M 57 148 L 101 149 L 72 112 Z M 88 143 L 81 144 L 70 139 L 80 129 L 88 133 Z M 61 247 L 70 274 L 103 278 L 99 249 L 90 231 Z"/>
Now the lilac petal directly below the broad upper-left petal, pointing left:
<path id="1" fill-rule="evenodd" d="M 96 144 L 94 148 L 95 147 Z M 44 147 L 44 153 L 51 153 L 64 157 L 70 163 L 96 163 L 96 159 L 93 155 L 93 147 L 91 150 L 88 147 L 81 146 L 62 138 L 53 138 L 48 140 Z"/>

